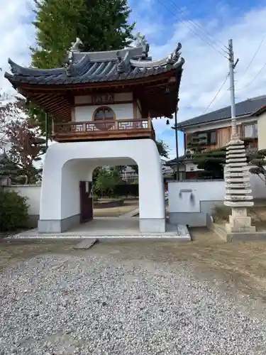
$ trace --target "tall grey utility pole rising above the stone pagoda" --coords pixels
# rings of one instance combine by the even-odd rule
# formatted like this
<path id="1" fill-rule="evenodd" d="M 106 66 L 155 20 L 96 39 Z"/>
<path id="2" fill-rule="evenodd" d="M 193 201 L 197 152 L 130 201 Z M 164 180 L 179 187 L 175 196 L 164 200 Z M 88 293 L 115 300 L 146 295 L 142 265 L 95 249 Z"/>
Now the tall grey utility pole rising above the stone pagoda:
<path id="1" fill-rule="evenodd" d="M 229 50 L 229 78 L 230 78 L 231 117 L 232 117 L 231 138 L 233 139 L 233 138 L 238 138 L 238 131 L 236 129 L 236 119 L 235 119 L 235 76 L 234 76 L 234 70 L 235 70 L 235 66 L 238 64 L 238 60 L 234 62 L 233 40 L 228 40 L 228 50 Z"/>

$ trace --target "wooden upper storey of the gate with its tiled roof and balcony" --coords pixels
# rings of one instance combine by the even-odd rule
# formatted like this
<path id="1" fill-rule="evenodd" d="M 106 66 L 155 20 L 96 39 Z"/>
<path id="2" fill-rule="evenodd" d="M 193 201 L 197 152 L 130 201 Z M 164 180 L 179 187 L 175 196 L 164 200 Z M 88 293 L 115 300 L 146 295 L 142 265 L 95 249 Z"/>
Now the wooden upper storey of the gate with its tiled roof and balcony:
<path id="1" fill-rule="evenodd" d="M 151 119 L 172 118 L 177 108 L 184 64 L 181 44 L 162 60 L 149 57 L 144 36 L 123 50 L 85 53 L 79 50 L 81 44 L 78 38 L 72 43 L 65 67 L 21 67 L 9 59 L 12 74 L 6 72 L 5 77 L 52 117 L 55 141 L 155 138 Z M 133 113 L 118 119 L 112 105 L 125 104 L 119 99 L 123 93 L 131 94 L 126 102 L 133 105 Z M 78 106 L 97 111 L 88 111 L 88 119 L 82 116 L 79 121 L 74 114 Z"/>

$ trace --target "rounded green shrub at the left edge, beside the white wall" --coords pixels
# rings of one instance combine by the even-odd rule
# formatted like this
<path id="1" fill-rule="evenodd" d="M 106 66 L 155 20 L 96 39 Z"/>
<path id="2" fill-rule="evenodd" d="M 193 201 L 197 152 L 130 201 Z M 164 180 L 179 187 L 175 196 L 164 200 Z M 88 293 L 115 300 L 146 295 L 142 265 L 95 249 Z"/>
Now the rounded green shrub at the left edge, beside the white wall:
<path id="1" fill-rule="evenodd" d="M 0 231 L 18 231 L 28 224 L 26 197 L 17 192 L 0 190 Z"/>

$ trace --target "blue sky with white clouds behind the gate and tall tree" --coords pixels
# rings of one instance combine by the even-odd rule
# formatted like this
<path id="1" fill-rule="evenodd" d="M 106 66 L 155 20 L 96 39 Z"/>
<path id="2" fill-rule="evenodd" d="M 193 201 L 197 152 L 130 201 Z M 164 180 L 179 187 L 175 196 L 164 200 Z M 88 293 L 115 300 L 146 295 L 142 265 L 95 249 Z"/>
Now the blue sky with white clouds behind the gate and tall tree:
<path id="1" fill-rule="evenodd" d="M 228 74 L 226 47 L 230 38 L 235 59 L 239 58 L 235 68 L 236 102 L 266 94 L 266 0 L 129 0 L 128 4 L 132 9 L 129 21 L 135 21 L 135 30 L 145 35 L 154 59 L 164 58 L 178 42 L 182 43 L 185 63 L 178 121 L 230 104 L 228 80 L 211 104 Z M 3 77 L 9 71 L 7 59 L 20 65 L 30 62 L 29 46 L 35 43 L 33 0 L 0 0 L 0 6 L 0 88 L 7 92 L 11 90 Z M 170 158 L 174 158 L 171 124 L 157 119 L 153 126 L 156 138 L 170 146 Z M 179 155 L 183 146 L 179 133 Z"/>

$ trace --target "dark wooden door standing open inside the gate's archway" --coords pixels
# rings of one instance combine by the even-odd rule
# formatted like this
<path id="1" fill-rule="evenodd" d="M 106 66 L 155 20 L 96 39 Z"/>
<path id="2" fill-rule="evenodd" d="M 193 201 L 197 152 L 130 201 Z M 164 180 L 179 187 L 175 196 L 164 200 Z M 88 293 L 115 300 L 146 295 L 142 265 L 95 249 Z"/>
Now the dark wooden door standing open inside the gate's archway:
<path id="1" fill-rule="evenodd" d="M 79 181 L 80 223 L 93 219 L 92 182 Z"/>

